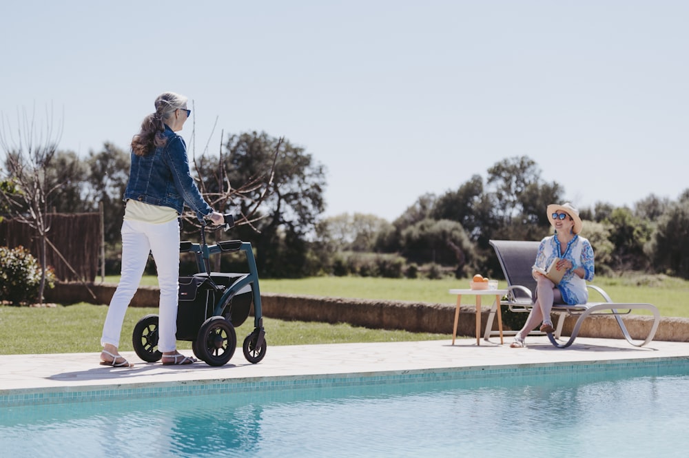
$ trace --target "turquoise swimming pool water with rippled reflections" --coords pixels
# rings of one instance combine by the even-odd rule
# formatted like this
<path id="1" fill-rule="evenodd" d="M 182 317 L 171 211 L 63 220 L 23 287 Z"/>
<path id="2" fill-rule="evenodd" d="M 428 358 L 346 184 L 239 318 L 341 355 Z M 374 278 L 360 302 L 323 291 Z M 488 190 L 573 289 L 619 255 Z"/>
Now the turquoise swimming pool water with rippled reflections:
<path id="1" fill-rule="evenodd" d="M 4 407 L 0 455 L 650 457 L 689 448 L 686 361 L 442 378 Z"/>

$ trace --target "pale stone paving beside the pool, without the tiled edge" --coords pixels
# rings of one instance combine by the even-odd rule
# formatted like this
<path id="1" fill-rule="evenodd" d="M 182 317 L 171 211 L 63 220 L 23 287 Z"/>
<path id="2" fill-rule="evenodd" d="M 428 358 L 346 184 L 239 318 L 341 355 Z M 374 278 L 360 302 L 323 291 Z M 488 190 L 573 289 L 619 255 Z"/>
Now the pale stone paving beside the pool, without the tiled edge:
<path id="1" fill-rule="evenodd" d="M 422 342 L 268 346 L 258 364 L 245 360 L 237 348 L 225 366 L 205 362 L 189 366 L 163 366 L 141 361 L 134 352 L 123 352 L 133 368 L 99 365 L 99 353 L 50 355 L 0 355 L 0 399 L 26 393 L 70 393 L 83 390 L 117 390 L 142 386 L 165 387 L 209 382 L 315 379 L 339 374 L 371 376 L 413 371 L 445 371 L 496 366 L 605 363 L 619 360 L 689 359 L 689 343 L 651 342 L 635 347 L 624 339 L 578 338 L 566 349 L 555 348 L 547 337 L 528 337 L 526 348 L 510 348 L 475 338 Z M 191 354 L 191 351 L 184 353 Z M 0 402 L 0 404 L 2 404 Z"/>

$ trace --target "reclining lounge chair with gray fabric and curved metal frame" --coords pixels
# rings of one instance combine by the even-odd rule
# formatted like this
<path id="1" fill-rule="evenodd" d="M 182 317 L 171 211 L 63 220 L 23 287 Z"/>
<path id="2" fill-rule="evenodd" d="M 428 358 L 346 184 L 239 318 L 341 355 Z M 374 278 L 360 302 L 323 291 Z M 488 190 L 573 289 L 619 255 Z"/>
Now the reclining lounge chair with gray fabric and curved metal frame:
<path id="1" fill-rule="evenodd" d="M 531 267 L 536 259 L 539 243 L 540 242 L 516 240 L 490 241 L 491 246 L 495 249 L 495 254 L 497 254 L 497 259 L 500 261 L 502 272 L 508 284 L 509 293 L 502 301 L 502 304 L 506 304 L 511 311 L 528 312 L 533 308 L 536 281 L 531 276 Z M 655 332 L 658 329 L 658 324 L 660 323 L 660 313 L 655 305 L 613 302 L 608 293 L 600 287 L 596 287 L 593 284 L 587 284 L 587 286 L 589 289 L 597 291 L 604 299 L 604 302 L 588 302 L 587 304 L 577 305 L 554 305 L 552 313 L 559 315 L 559 318 L 557 320 L 555 335 L 553 335 L 553 333 L 548 333 L 548 339 L 550 339 L 553 345 L 558 348 L 567 348 L 570 346 L 577 338 L 579 329 L 581 329 L 584 320 L 591 315 L 613 315 L 615 320 L 617 320 L 617 324 L 619 324 L 619 329 L 622 331 L 624 338 L 634 346 L 644 346 L 653 340 Z M 648 310 L 655 318 L 646 339 L 640 344 L 636 343 L 629 335 L 621 318 L 622 315 L 628 315 L 635 309 Z M 559 339 L 562 334 L 564 319 L 568 315 L 578 316 L 579 319 L 574 325 L 569 340 L 561 343 Z M 488 324 L 486 325 L 486 338 L 489 337 L 491 333 L 494 316 L 495 311 L 491 310 Z"/>

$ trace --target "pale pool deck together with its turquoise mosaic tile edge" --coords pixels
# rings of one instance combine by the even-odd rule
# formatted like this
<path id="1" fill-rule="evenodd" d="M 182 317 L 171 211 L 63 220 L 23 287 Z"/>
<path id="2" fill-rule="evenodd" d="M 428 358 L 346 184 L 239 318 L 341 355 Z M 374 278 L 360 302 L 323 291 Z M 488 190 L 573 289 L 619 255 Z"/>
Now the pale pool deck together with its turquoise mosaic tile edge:
<path id="1" fill-rule="evenodd" d="M 624 340 L 581 338 L 560 350 L 546 337 L 530 338 L 528 347 L 518 349 L 495 340 L 481 346 L 475 339 L 458 340 L 454 346 L 444 340 L 276 346 L 259 364 L 235 355 L 220 368 L 203 362 L 178 367 L 138 362 L 133 352 L 123 354 L 134 368 L 99 366 L 98 353 L 0 355 L 0 407 L 689 363 L 689 344 L 683 342 L 651 342 L 637 348 Z"/>

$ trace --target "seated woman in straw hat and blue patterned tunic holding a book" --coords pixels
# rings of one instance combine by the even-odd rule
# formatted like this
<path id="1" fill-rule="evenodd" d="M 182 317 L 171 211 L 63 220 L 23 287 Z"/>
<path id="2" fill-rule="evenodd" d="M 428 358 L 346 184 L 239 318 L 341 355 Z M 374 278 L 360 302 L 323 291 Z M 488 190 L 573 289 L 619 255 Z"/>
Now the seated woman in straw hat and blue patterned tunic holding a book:
<path id="1" fill-rule="evenodd" d="M 555 228 L 555 235 L 541 240 L 534 267 L 547 267 L 555 258 L 560 258 L 556 264 L 557 269 L 566 270 L 557 285 L 535 269 L 531 271 L 537 282 L 536 301 L 524 327 L 515 335 L 515 340 L 510 345 L 512 348 L 526 346 L 524 338 L 540 322 L 540 331 L 554 331 L 551 321 L 553 304 L 586 304 L 588 301 L 586 280 L 593 280 L 593 248 L 586 238 L 579 236 L 582 231 L 579 211 L 567 202 L 563 205 L 548 205 L 547 214 Z"/>

